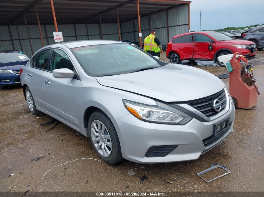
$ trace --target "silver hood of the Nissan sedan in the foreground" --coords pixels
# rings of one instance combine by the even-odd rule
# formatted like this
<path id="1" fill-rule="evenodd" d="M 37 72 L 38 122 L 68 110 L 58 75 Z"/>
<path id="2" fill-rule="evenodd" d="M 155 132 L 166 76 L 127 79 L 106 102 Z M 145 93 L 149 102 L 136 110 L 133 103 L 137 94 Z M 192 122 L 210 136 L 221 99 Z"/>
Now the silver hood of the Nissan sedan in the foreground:
<path id="1" fill-rule="evenodd" d="M 225 84 L 215 75 L 199 68 L 167 64 L 150 70 L 95 77 L 99 84 L 165 102 L 199 99 L 221 91 Z"/>

